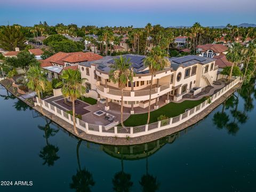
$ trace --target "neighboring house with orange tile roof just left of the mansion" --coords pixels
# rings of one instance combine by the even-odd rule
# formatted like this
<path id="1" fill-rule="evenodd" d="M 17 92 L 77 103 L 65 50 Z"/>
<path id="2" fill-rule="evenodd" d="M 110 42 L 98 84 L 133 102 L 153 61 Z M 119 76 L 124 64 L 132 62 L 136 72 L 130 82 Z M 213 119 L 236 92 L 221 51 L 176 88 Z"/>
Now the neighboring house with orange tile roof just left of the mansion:
<path id="1" fill-rule="evenodd" d="M 93 61 L 101 59 L 102 57 L 95 53 L 73 52 L 64 53 L 58 52 L 51 57 L 40 60 L 41 68 L 47 70 L 48 78 L 58 78 L 61 71 L 67 67 L 77 68 L 77 65 L 84 61 Z"/>

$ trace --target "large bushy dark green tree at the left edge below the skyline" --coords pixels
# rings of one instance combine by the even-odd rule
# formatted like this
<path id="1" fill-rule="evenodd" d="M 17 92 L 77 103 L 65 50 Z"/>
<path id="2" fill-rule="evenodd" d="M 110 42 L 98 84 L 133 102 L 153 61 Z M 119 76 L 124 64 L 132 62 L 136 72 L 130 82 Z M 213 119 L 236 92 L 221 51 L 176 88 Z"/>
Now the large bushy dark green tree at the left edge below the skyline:
<path id="1" fill-rule="evenodd" d="M 22 49 L 26 45 L 25 37 L 20 31 L 19 26 L 3 26 L 0 30 L 0 47 L 8 50 L 14 51 L 15 47 Z"/>

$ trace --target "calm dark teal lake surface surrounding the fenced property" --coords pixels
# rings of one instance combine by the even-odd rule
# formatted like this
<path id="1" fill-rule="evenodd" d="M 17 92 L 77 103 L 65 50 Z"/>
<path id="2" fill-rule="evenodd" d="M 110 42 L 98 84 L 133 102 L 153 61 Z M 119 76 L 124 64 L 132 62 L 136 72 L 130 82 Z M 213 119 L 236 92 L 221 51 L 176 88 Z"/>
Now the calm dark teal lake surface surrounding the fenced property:
<path id="1" fill-rule="evenodd" d="M 132 147 L 79 141 L 1 85 L 0 96 L 0 180 L 13 181 L 0 191 L 256 191 L 255 81 L 188 129 Z"/>

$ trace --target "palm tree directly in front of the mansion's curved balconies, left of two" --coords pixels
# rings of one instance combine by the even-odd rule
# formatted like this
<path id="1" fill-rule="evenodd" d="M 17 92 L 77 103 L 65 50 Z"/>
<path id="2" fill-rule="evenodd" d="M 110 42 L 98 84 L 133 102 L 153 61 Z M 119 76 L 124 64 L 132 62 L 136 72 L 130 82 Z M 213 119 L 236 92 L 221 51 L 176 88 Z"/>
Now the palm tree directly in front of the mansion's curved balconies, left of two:
<path id="1" fill-rule="evenodd" d="M 115 64 L 111 65 L 109 79 L 114 83 L 118 83 L 118 87 L 121 90 L 121 124 L 123 124 L 123 102 L 124 102 L 124 88 L 128 81 L 133 83 L 133 68 L 131 68 L 132 63 L 130 59 L 126 59 L 123 56 L 120 56 L 119 59 L 114 59 Z"/>

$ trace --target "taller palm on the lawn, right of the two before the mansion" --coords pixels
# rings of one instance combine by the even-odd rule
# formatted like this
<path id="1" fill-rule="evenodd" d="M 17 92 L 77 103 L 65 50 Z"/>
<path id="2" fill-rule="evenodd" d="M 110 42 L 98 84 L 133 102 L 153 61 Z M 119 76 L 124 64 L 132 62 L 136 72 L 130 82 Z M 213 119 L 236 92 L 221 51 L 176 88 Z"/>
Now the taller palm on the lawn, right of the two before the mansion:
<path id="1" fill-rule="evenodd" d="M 143 60 L 143 62 L 145 63 L 145 66 L 149 68 L 149 72 L 151 73 L 147 124 L 149 123 L 149 119 L 150 119 L 150 102 L 151 102 L 151 92 L 152 92 L 152 86 L 153 86 L 153 77 L 157 71 L 162 70 L 167 66 L 170 66 L 170 61 L 169 59 L 166 58 L 167 56 L 168 54 L 166 53 L 166 51 L 162 50 L 158 45 L 156 47 L 153 47 L 148 57 L 146 57 Z"/>

